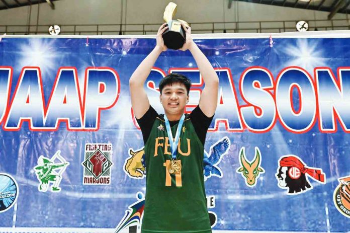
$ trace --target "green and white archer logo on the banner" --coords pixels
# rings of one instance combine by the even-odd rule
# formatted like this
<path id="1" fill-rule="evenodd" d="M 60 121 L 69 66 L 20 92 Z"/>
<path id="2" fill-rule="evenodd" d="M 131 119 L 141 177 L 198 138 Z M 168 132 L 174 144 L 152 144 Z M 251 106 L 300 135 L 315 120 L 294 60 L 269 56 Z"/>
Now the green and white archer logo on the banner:
<path id="1" fill-rule="evenodd" d="M 46 192 L 52 183 L 51 192 L 61 191 L 59 184 L 62 180 L 62 174 L 68 165 L 69 163 L 61 156 L 60 150 L 57 150 L 51 159 L 40 156 L 38 165 L 34 167 L 34 171 L 40 182 L 38 190 L 40 192 Z"/>

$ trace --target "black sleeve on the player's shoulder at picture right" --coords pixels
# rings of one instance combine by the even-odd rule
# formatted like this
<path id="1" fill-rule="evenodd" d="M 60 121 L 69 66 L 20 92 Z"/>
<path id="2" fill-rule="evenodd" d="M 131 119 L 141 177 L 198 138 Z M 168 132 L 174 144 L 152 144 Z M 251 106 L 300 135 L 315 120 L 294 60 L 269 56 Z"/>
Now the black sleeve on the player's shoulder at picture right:
<path id="1" fill-rule="evenodd" d="M 205 137 L 214 115 L 212 117 L 207 117 L 198 105 L 190 114 L 190 118 L 199 139 L 204 145 Z"/>

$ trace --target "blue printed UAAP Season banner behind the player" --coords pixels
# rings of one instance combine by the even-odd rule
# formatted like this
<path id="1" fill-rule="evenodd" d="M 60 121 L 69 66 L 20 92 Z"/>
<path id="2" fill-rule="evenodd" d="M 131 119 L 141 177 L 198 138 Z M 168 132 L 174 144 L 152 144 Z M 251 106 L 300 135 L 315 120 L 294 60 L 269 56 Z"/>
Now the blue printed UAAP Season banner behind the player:
<path id="1" fill-rule="evenodd" d="M 350 229 L 349 35 L 195 36 L 220 80 L 203 163 L 214 231 Z M 147 172 L 129 78 L 154 46 L 0 38 L 0 232 L 140 232 Z M 193 83 L 190 113 L 205 84 L 189 51 L 159 56 L 150 104 L 163 113 L 171 72 Z"/>

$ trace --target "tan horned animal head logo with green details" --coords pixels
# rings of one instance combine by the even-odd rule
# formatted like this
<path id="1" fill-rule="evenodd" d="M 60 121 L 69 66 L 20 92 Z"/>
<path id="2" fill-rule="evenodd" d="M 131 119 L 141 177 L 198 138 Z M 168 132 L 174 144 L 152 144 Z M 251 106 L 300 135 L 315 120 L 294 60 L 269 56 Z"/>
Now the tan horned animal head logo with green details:
<path id="1" fill-rule="evenodd" d="M 242 147 L 239 151 L 239 164 L 241 167 L 237 169 L 237 173 L 241 173 L 244 178 L 245 184 L 248 187 L 254 187 L 256 185 L 256 179 L 260 176 L 260 173 L 265 173 L 261 165 L 261 153 L 258 147 L 255 147 L 255 157 L 252 162 L 249 162 L 245 156 L 245 148 Z"/>

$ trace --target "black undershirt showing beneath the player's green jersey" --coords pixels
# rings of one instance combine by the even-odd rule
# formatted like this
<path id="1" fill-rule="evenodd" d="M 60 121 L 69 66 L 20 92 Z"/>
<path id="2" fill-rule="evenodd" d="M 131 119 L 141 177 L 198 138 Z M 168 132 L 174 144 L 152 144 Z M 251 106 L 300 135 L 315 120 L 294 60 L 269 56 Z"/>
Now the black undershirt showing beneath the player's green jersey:
<path id="1" fill-rule="evenodd" d="M 156 117 L 158 117 L 158 113 L 154 110 L 152 106 L 149 106 L 149 109 L 147 110 L 147 112 L 140 119 L 136 119 L 137 123 L 141 128 L 143 142 L 145 144 L 147 142 L 149 134 L 151 133 L 152 126 Z M 197 106 L 189 115 L 189 118 L 191 119 L 191 122 L 195 128 L 195 131 L 203 145 L 205 142 L 205 137 L 207 135 L 207 130 L 209 128 L 211 121 L 213 120 L 213 117 L 214 116 L 207 117 L 202 112 L 199 106 Z M 163 117 L 161 116 L 161 118 Z M 178 122 L 179 121 L 169 121 L 170 126 L 174 126 Z"/>

